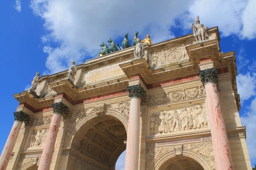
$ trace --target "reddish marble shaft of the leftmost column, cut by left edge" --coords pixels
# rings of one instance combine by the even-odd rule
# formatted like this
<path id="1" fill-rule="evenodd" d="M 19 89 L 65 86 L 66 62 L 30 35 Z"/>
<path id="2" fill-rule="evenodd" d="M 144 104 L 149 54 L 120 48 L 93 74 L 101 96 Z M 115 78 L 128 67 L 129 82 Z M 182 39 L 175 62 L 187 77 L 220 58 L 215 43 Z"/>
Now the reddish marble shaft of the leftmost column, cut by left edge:
<path id="1" fill-rule="evenodd" d="M 22 122 L 15 120 L 0 157 L 0 170 L 6 170 L 16 143 Z"/>

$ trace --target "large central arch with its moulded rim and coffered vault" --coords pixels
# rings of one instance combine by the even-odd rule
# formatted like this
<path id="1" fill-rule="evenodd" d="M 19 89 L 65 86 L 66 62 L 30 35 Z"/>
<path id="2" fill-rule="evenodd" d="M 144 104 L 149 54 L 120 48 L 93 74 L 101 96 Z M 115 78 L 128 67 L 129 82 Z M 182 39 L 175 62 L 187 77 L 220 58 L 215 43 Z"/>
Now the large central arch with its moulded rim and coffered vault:
<path id="1" fill-rule="evenodd" d="M 128 118 L 119 111 L 106 108 L 105 113 L 97 115 L 95 111 L 88 113 L 70 130 L 66 146 L 79 150 L 74 168 L 88 168 L 87 159 L 98 161 L 95 167 L 114 169 L 119 155 L 125 150 L 123 141 L 127 139 Z M 83 161 L 84 160 L 84 161 Z M 72 164 L 72 160 L 67 160 Z M 102 167 L 100 167 L 102 166 Z M 97 167 L 97 168 L 98 168 Z"/>

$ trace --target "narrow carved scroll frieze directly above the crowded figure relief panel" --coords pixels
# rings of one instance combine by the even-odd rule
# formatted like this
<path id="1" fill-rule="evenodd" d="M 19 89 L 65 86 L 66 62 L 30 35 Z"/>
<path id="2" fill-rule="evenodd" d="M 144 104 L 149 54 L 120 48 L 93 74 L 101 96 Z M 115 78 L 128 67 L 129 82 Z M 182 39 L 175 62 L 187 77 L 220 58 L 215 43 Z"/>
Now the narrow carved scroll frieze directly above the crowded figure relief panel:
<path id="1" fill-rule="evenodd" d="M 178 91 L 167 92 L 166 94 L 150 95 L 148 96 L 147 105 L 161 105 L 169 102 L 177 102 L 203 96 L 206 96 L 206 93 L 205 88 L 201 85 L 195 88 L 186 88 Z"/>

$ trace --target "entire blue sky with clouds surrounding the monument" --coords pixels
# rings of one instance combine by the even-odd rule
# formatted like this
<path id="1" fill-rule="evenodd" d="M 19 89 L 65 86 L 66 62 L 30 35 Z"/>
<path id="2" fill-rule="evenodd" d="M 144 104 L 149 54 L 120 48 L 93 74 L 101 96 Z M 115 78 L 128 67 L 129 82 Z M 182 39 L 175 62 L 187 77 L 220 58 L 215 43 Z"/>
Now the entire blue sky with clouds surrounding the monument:
<path id="1" fill-rule="evenodd" d="M 192 33 L 199 15 L 208 28 L 218 26 L 221 51 L 236 51 L 242 125 L 247 126 L 247 147 L 256 164 L 256 6 L 255 0 L 5 0 L 0 1 L 0 59 L 2 69 L 2 140 L 6 142 L 18 102 L 13 94 L 24 91 L 36 72 L 41 76 L 63 71 L 76 60 L 96 57 L 99 44 L 111 37 L 121 44 L 135 31 L 153 43 Z M 122 159 L 124 156 L 122 156 Z M 123 165 L 117 165 L 122 170 Z"/>

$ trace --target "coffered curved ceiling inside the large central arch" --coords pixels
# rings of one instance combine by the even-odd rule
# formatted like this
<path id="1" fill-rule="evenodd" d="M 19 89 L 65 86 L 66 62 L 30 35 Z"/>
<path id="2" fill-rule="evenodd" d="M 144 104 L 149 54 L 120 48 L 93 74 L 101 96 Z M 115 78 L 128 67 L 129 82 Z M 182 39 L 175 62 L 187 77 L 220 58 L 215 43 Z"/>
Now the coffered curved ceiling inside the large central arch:
<path id="1" fill-rule="evenodd" d="M 74 138 L 72 147 L 102 164 L 115 166 L 119 155 L 126 148 L 124 141 L 127 135 L 122 122 L 113 117 L 99 116 L 80 130 L 82 133 Z"/>

